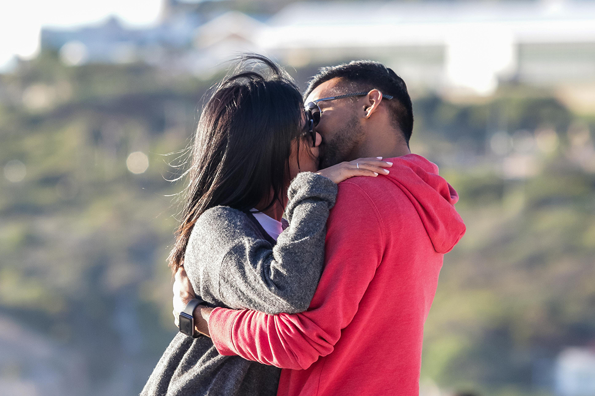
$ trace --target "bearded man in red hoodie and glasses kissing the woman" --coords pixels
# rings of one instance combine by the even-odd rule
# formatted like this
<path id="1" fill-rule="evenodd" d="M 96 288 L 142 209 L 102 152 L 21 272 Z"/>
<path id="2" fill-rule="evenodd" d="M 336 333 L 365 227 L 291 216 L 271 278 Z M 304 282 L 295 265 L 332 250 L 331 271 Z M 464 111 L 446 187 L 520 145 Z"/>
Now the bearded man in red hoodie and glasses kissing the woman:
<path id="1" fill-rule="evenodd" d="M 465 232 L 458 195 L 436 165 L 410 153 L 411 99 L 391 69 L 368 61 L 323 68 L 305 96 L 315 121 L 320 111 L 321 167 L 382 156 L 394 163 L 390 174 L 340 183 L 308 311 L 199 306 L 196 328 L 223 355 L 284 368 L 278 395 L 418 395 L 443 255 Z M 193 298 L 184 284 L 178 275 L 175 306 Z"/>

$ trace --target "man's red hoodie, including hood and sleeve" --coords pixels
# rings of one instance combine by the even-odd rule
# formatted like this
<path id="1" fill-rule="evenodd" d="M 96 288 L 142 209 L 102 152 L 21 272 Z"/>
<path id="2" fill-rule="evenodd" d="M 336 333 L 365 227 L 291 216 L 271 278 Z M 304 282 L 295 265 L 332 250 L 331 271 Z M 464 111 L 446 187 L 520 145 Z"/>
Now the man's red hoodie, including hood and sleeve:
<path id="1" fill-rule="evenodd" d="M 340 183 L 308 311 L 211 313 L 221 354 L 284 368 L 278 396 L 419 394 L 424 322 L 465 224 L 435 164 L 415 154 L 387 160 L 388 176 Z"/>

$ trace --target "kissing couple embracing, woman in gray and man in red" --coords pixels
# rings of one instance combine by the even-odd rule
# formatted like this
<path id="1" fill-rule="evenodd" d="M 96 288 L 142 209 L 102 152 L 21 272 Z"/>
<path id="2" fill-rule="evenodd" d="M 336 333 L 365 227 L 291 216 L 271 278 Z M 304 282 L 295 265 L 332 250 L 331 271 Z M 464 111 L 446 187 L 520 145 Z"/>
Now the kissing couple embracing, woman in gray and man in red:
<path id="1" fill-rule="evenodd" d="M 392 69 L 322 68 L 304 97 L 251 55 L 206 103 L 170 255 L 181 331 L 143 396 L 418 394 L 458 195 L 409 151 Z"/>

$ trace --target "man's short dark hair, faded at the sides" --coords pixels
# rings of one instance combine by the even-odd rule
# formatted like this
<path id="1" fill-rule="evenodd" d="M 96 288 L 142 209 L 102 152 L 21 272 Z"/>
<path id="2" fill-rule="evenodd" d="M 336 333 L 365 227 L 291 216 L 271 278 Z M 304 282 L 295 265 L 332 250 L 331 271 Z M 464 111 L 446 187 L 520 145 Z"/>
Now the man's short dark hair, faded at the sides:
<path id="1" fill-rule="evenodd" d="M 392 95 L 393 99 L 385 99 L 386 104 L 392 109 L 394 125 L 403 132 L 403 137 L 409 145 L 409 139 L 413 131 L 411 97 L 407 92 L 405 81 L 391 68 L 374 61 L 352 61 L 348 64 L 323 67 L 308 82 L 304 97 L 308 97 L 318 85 L 333 78 L 344 80 L 349 89 L 369 91 L 376 88 L 385 95 Z"/>

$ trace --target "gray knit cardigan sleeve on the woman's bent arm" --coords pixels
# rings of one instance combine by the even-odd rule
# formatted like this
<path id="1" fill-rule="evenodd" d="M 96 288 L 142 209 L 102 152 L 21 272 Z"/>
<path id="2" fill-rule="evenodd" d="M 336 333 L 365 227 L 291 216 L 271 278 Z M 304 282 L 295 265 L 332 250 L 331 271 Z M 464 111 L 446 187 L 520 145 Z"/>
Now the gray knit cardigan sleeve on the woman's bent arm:
<path id="1" fill-rule="evenodd" d="M 297 175 L 288 191 L 289 226 L 275 246 L 242 212 L 227 207 L 205 212 L 184 258 L 195 291 L 231 308 L 305 311 L 324 265 L 326 221 L 336 194 L 330 179 L 311 172 Z"/>

